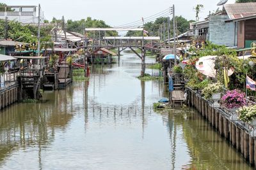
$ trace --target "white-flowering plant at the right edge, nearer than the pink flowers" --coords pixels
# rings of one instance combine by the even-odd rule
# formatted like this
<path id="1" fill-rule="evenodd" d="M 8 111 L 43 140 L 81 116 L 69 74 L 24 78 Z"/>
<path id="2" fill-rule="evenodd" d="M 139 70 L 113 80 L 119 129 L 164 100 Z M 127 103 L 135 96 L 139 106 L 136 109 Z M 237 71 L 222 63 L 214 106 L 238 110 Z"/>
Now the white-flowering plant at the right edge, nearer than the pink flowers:
<path id="1" fill-rule="evenodd" d="M 252 126 L 256 126 L 256 105 L 243 106 L 237 110 L 239 113 L 239 120 L 250 123 Z"/>

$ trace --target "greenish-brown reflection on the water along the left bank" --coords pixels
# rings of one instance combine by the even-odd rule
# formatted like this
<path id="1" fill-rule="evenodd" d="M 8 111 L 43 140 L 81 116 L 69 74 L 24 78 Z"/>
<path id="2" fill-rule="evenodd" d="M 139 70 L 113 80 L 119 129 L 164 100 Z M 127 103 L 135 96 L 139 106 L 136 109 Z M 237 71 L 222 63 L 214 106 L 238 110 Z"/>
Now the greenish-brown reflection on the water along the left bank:
<path id="1" fill-rule="evenodd" d="M 47 101 L 38 104 L 14 104 L 0 114 L 0 164 L 16 150 L 38 146 L 38 163 L 42 148 L 54 140 L 55 131 L 65 131 L 72 119 L 72 87 L 44 94 Z"/>

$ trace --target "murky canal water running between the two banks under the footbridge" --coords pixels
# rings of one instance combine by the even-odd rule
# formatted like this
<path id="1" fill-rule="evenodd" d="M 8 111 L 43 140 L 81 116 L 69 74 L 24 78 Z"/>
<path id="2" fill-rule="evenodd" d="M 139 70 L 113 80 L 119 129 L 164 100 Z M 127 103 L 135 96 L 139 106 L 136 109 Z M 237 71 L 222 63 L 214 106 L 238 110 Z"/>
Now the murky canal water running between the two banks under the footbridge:
<path id="1" fill-rule="evenodd" d="M 90 81 L 1 111 L 0 169 L 252 169 L 195 110 L 154 111 L 167 88 L 140 68 L 123 53 Z"/>

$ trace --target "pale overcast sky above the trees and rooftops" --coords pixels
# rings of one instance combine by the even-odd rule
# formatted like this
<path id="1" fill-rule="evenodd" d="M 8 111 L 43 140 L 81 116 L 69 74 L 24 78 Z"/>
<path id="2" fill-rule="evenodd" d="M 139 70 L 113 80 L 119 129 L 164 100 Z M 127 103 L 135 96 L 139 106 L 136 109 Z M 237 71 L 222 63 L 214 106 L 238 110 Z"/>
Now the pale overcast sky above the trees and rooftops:
<path id="1" fill-rule="evenodd" d="M 52 17 L 80 20 L 92 17 L 106 21 L 106 24 L 117 26 L 149 17 L 175 4 L 176 14 L 188 20 L 195 20 L 196 4 L 203 4 L 200 13 L 203 20 L 209 11 L 216 10 L 220 0 L 0 0 L 8 5 L 38 5 L 42 6 L 47 20 Z M 234 3 L 236 0 L 228 0 Z M 222 8 L 222 7 L 221 7 Z"/>

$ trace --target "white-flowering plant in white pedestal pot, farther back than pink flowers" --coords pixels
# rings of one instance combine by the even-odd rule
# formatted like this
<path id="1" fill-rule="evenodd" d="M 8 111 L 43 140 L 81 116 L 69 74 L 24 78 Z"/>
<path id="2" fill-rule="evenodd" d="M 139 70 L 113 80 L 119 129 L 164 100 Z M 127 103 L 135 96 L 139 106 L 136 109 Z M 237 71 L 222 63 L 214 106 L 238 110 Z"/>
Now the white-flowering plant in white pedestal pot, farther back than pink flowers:
<path id="1" fill-rule="evenodd" d="M 205 99 L 212 99 L 214 101 L 214 103 L 212 104 L 213 107 L 220 107 L 218 101 L 221 99 L 220 92 L 222 90 L 222 87 L 223 85 L 220 82 L 218 82 L 209 84 L 202 90 L 202 95 L 205 97 Z"/>

